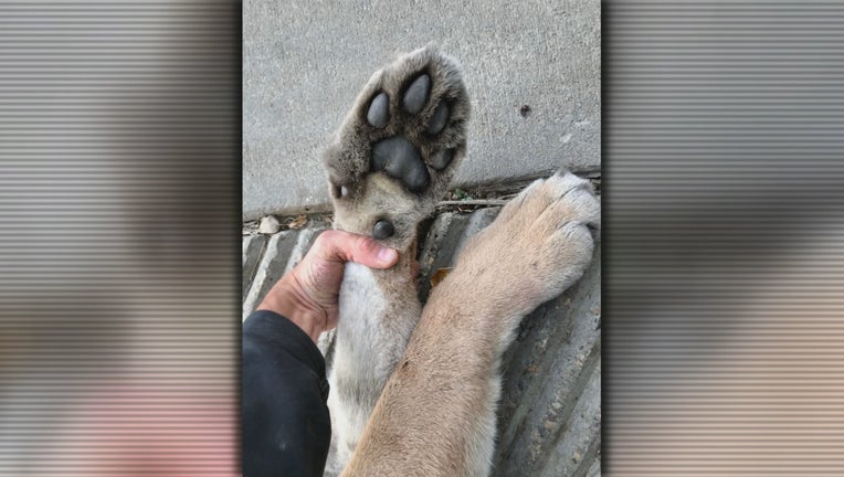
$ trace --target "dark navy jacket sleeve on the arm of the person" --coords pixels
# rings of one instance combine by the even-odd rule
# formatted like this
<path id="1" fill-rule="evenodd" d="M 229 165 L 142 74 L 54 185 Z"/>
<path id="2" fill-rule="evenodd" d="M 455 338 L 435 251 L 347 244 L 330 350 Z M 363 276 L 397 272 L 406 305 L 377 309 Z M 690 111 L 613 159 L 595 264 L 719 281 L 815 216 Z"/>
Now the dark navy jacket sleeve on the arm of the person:
<path id="1" fill-rule="evenodd" d="M 325 360 L 273 311 L 243 322 L 243 476 L 321 476 L 331 422 Z"/>

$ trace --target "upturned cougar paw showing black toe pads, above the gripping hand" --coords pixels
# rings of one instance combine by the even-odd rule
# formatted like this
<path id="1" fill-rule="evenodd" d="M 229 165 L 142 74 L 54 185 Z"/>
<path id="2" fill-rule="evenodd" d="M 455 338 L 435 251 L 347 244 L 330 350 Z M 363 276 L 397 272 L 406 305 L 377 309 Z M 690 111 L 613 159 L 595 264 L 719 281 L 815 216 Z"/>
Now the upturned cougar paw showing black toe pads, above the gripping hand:
<path id="1" fill-rule="evenodd" d="M 384 242 L 414 232 L 465 156 L 468 115 L 456 63 L 433 45 L 373 74 L 325 153 L 336 225 Z"/>

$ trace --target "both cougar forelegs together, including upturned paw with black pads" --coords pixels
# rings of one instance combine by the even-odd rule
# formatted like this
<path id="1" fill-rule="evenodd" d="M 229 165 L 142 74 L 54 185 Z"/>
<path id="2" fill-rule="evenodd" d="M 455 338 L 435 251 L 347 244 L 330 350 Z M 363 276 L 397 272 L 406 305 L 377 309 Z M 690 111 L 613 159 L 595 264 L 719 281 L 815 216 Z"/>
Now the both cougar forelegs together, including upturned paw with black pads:
<path id="1" fill-rule="evenodd" d="M 470 109 L 456 61 L 428 45 L 372 75 L 325 150 L 335 229 L 400 256 L 389 269 L 345 268 L 327 476 L 488 475 L 500 357 L 521 318 L 591 259 L 599 201 L 558 172 L 467 242 L 422 309 L 418 225 L 466 155 Z"/>

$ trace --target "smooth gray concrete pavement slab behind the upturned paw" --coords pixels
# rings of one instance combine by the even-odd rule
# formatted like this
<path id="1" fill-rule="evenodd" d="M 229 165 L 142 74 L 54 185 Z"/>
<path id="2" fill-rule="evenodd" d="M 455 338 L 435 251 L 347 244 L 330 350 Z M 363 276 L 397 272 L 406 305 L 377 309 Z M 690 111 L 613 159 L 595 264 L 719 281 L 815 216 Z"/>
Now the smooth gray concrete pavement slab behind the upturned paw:
<path id="1" fill-rule="evenodd" d="M 597 0 L 244 2 L 244 220 L 328 209 L 327 137 L 372 72 L 431 41 L 472 96 L 454 186 L 600 169 L 600 14 Z"/>

